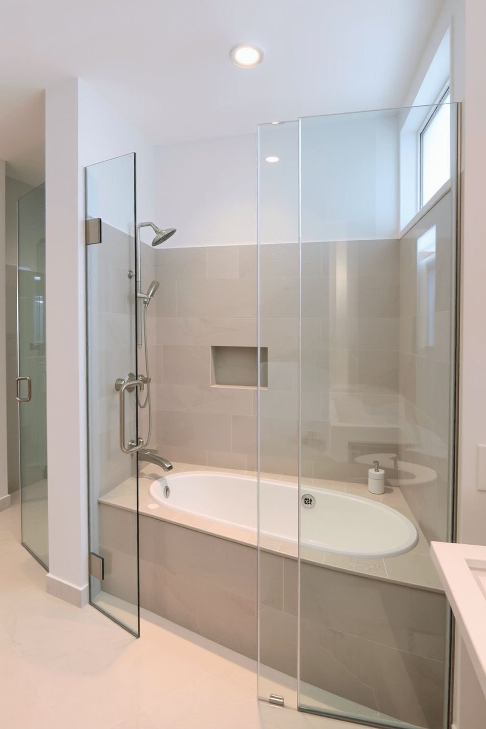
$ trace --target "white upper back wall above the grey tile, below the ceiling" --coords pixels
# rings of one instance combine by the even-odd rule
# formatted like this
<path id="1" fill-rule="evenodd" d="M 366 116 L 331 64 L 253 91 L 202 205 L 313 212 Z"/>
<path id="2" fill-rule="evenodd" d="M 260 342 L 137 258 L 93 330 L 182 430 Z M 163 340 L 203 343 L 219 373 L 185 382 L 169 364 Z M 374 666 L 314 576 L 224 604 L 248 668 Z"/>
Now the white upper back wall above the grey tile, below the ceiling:
<path id="1" fill-rule="evenodd" d="M 347 121 L 344 133 L 342 118 L 339 125 L 332 117 L 303 122 L 305 240 L 334 239 L 337 227 L 341 237 L 350 240 L 398 234 L 396 116 L 362 119 L 350 115 Z M 264 125 L 260 144 L 262 160 L 267 155 L 280 160 L 275 164 L 262 161 L 261 165 L 265 195 L 260 209 L 262 240 L 297 241 L 298 123 Z M 356 165 L 359 174 L 353 174 Z M 365 167 L 370 170 L 366 180 L 362 176 Z M 357 181 L 354 190 L 349 189 L 350 176 Z M 160 227 L 177 228 L 164 247 L 256 243 L 256 181 L 256 134 L 158 147 L 156 222 Z M 343 206 L 342 200 L 348 204 Z M 325 229 L 323 219 L 332 221 Z"/>

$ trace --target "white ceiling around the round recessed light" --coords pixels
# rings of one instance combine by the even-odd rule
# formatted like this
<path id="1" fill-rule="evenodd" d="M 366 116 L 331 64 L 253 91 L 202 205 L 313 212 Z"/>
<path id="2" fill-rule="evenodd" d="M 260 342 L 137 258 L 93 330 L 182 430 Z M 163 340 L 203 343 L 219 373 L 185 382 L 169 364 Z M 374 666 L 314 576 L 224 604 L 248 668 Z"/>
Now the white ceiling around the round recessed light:
<path id="1" fill-rule="evenodd" d="M 42 91 L 80 77 L 154 144 L 403 103 L 443 0 L 1 0 L 0 157 L 43 179 Z M 240 69 L 232 46 L 262 48 Z"/>

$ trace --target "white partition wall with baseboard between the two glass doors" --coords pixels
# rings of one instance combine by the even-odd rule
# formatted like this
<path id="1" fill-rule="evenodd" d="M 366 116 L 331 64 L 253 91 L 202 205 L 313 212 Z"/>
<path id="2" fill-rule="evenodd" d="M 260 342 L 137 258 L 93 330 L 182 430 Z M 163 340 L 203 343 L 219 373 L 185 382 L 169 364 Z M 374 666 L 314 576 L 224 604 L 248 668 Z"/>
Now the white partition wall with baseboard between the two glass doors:
<path id="1" fill-rule="evenodd" d="M 84 82 L 46 93 L 47 590 L 87 601 L 85 171 L 137 153 L 137 205 L 152 217 L 154 150 Z"/>

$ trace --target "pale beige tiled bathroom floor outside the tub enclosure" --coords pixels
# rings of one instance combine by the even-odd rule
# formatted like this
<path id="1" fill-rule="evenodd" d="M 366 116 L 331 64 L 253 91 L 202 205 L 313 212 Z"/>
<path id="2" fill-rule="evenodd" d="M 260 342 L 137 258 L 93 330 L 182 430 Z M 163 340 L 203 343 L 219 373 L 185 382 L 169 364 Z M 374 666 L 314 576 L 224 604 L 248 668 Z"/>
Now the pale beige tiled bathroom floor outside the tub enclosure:
<path id="1" fill-rule="evenodd" d="M 20 545 L 18 503 L 0 512 L 2 729 L 345 726 L 256 701 L 255 668 L 149 612 L 134 639 L 93 607 L 48 595 Z"/>

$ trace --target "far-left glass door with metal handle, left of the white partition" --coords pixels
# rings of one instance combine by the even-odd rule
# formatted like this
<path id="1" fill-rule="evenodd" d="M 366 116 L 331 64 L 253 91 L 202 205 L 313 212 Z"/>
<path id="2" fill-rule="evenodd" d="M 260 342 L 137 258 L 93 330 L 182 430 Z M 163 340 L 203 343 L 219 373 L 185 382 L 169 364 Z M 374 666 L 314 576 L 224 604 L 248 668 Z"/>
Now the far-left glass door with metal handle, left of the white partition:
<path id="1" fill-rule="evenodd" d="M 49 569 L 47 524 L 45 185 L 17 203 L 17 302 L 22 543 Z M 31 398 L 28 399 L 29 394 Z"/>

